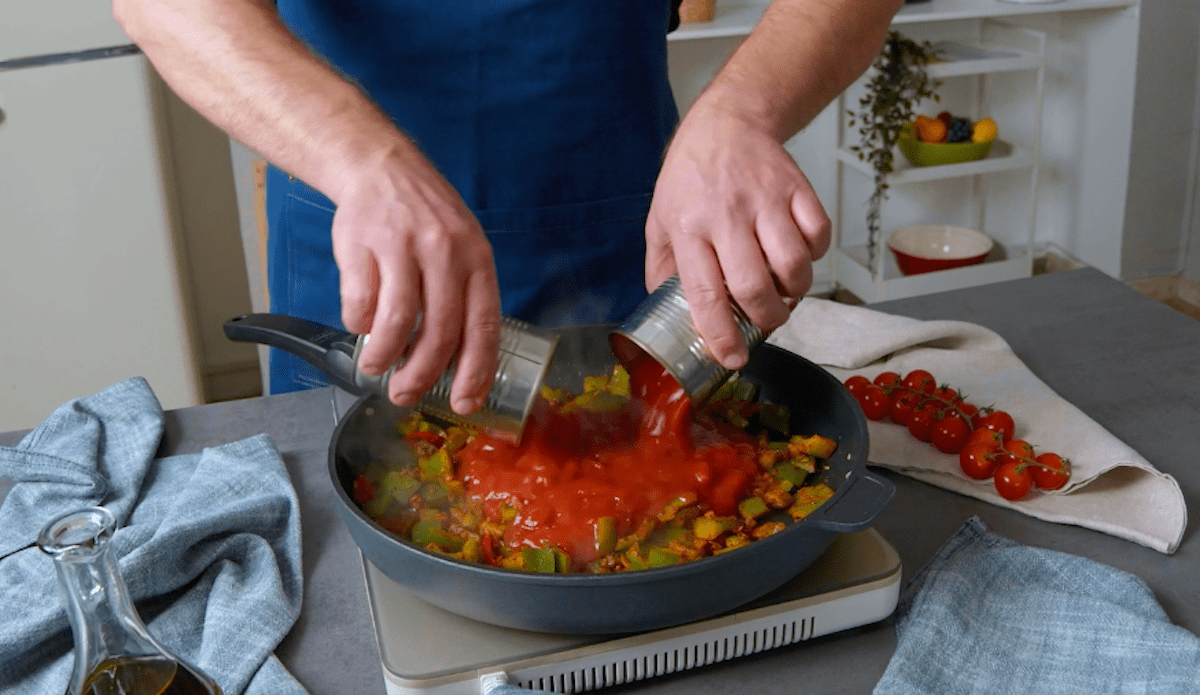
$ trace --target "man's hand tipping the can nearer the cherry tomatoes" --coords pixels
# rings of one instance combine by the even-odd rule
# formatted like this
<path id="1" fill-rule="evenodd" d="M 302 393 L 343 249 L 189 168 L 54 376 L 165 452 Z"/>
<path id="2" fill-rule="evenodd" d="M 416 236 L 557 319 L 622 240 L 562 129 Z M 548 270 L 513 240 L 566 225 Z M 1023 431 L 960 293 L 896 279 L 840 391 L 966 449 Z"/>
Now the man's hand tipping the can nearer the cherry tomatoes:
<path id="1" fill-rule="evenodd" d="M 755 325 L 779 328 L 812 284 L 812 260 L 829 248 L 829 217 L 779 139 L 697 103 L 654 188 L 647 288 L 678 272 L 708 348 L 726 369 L 740 369 L 748 348 L 728 298 Z"/>

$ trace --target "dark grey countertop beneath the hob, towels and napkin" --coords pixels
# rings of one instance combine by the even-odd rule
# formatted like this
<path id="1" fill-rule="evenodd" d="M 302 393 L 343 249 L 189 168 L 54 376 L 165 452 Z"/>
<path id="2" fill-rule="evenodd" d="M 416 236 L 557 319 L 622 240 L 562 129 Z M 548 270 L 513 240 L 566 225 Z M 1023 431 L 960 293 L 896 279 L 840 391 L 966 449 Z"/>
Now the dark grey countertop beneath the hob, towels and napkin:
<path id="1" fill-rule="evenodd" d="M 895 300 L 874 308 L 958 319 L 1001 334 L 1061 396 L 1174 475 L 1188 503 L 1200 490 L 1200 322 L 1091 270 Z M 326 473 L 334 430 L 320 389 L 167 413 L 162 454 L 185 454 L 259 432 L 272 437 L 301 499 L 305 598 L 277 653 L 314 695 L 384 693 L 359 555 L 336 516 Z M 18 433 L 0 435 L 0 444 Z M 907 582 L 978 515 L 997 533 L 1130 571 L 1170 618 L 1200 634 L 1200 547 L 1190 532 L 1175 555 L 1079 527 L 1038 521 L 883 473 L 896 485 L 876 528 L 899 551 Z M 2 490 L 0 490 L 2 493 Z M 870 693 L 895 649 L 890 619 L 607 693 Z"/>

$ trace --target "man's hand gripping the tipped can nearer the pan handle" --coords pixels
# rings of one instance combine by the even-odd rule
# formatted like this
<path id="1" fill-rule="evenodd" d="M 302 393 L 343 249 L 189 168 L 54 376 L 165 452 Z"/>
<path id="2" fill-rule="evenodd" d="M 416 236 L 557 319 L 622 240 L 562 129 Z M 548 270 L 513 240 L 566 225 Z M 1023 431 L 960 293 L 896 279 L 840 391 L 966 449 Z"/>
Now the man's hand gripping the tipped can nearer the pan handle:
<path id="1" fill-rule="evenodd" d="M 412 406 L 457 355 L 450 403 L 467 415 L 496 375 L 500 300 L 492 247 L 458 193 L 419 152 L 356 167 L 336 198 L 342 320 L 370 334 L 359 367 Z"/>

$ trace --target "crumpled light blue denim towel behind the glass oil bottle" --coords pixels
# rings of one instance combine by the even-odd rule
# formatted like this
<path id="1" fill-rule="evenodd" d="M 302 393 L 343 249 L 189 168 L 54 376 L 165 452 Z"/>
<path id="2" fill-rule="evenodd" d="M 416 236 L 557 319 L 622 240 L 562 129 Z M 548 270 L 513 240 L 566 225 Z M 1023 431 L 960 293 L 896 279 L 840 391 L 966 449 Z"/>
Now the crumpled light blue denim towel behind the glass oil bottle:
<path id="1" fill-rule="evenodd" d="M 73 665 L 53 561 L 35 544 L 60 514 L 103 505 L 150 633 L 227 694 L 305 689 L 274 655 L 300 612 L 300 508 L 265 436 L 158 457 L 163 413 L 142 378 L 58 408 L 0 448 L 0 693 L 61 695 Z"/>

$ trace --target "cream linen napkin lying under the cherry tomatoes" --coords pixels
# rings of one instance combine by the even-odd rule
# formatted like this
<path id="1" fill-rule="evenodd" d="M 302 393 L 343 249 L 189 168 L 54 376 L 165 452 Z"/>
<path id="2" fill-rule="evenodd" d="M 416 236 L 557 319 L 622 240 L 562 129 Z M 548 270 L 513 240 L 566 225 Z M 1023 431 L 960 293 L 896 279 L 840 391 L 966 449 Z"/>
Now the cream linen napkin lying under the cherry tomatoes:
<path id="1" fill-rule="evenodd" d="M 1034 490 L 1009 502 L 990 480 L 962 474 L 958 456 L 918 442 L 905 427 L 869 421 L 870 460 L 931 485 L 1015 509 L 1056 523 L 1100 531 L 1171 553 L 1187 528 L 1187 505 L 1176 480 L 1111 432 L 1054 393 L 980 325 L 919 320 L 805 298 L 768 342 L 826 367 L 841 381 L 874 378 L 883 371 L 905 375 L 923 369 L 962 391 L 970 402 L 1008 412 L 1016 437 L 1038 453 L 1072 461 L 1070 481 L 1055 492 Z"/>

